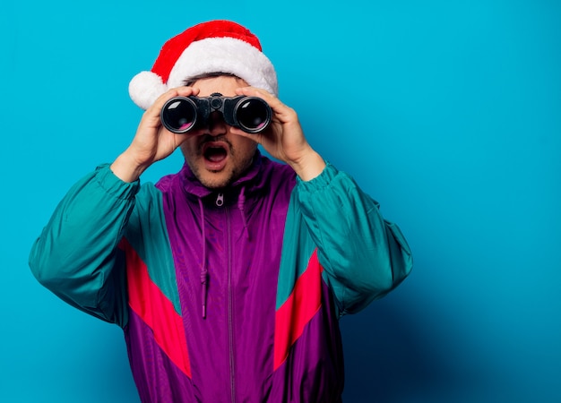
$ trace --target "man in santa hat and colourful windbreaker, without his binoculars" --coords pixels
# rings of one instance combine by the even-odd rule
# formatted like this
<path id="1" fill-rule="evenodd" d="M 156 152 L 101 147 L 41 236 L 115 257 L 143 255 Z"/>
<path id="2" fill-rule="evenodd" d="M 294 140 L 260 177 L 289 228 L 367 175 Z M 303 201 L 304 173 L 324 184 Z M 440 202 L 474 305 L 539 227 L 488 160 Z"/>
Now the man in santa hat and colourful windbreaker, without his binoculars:
<path id="1" fill-rule="evenodd" d="M 146 109 L 134 140 L 67 193 L 33 245 L 35 276 L 123 328 L 142 401 L 340 401 L 338 319 L 410 272 L 398 227 L 308 144 L 236 23 L 170 39 L 129 90 Z M 265 100 L 271 125 L 246 133 L 215 111 L 187 133 L 162 126 L 168 99 L 215 93 Z M 181 171 L 141 186 L 178 147 Z"/>

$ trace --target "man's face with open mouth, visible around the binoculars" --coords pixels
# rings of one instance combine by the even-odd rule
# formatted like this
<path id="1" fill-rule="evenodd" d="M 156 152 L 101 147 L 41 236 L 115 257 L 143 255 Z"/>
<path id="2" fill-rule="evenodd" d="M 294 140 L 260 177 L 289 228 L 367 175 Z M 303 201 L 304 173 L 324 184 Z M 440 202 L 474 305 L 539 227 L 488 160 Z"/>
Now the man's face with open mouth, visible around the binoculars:
<path id="1" fill-rule="evenodd" d="M 209 77 L 193 84 L 200 90 L 199 97 L 220 92 L 224 97 L 235 97 L 235 90 L 247 83 L 237 77 Z M 181 150 L 194 176 L 206 187 L 217 189 L 232 184 L 251 165 L 257 143 L 230 133 L 220 112 L 213 112 L 206 127 L 194 133 L 181 145 Z"/>

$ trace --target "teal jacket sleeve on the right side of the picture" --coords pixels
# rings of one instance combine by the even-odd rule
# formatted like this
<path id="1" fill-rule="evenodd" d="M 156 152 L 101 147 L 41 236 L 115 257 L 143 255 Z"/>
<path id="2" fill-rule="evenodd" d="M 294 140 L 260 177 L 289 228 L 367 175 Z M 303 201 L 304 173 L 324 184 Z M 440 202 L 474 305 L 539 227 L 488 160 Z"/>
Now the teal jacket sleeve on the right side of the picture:
<path id="1" fill-rule="evenodd" d="M 296 192 L 341 315 L 363 309 L 410 273 L 412 256 L 399 227 L 350 176 L 328 164 L 315 179 L 298 179 Z"/>

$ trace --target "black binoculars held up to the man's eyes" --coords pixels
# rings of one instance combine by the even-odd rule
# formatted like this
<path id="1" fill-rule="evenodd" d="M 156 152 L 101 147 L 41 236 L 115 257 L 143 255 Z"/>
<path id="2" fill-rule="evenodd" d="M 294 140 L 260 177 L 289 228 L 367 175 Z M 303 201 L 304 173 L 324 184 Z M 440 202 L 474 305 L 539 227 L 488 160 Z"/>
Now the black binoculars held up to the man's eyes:
<path id="1" fill-rule="evenodd" d="M 187 133 L 208 124 L 212 112 L 220 112 L 224 122 L 246 133 L 259 133 L 271 123 L 269 104 L 257 97 L 174 97 L 161 108 L 161 123 L 172 133 Z"/>

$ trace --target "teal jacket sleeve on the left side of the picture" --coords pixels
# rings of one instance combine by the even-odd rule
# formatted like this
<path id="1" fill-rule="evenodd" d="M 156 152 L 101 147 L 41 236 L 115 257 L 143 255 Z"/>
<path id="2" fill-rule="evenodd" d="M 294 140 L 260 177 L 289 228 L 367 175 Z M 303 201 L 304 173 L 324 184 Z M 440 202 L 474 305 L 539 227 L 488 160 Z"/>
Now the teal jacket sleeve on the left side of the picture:
<path id="1" fill-rule="evenodd" d="M 124 256 L 117 248 L 134 209 L 138 182 L 101 166 L 74 184 L 30 252 L 39 282 L 68 304 L 124 326 Z"/>

